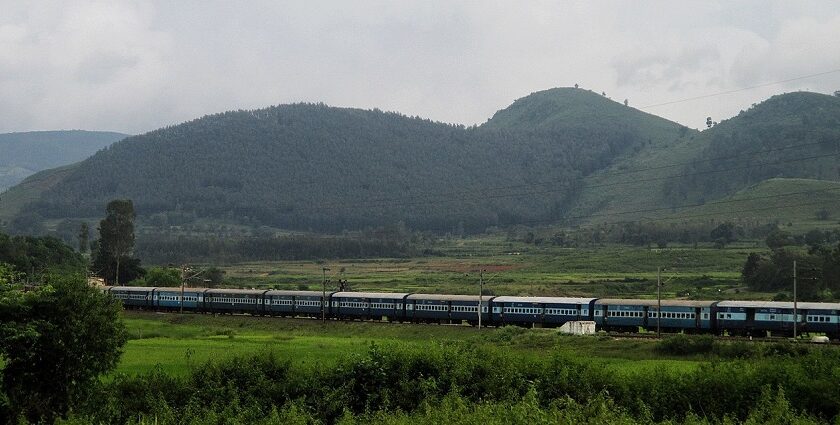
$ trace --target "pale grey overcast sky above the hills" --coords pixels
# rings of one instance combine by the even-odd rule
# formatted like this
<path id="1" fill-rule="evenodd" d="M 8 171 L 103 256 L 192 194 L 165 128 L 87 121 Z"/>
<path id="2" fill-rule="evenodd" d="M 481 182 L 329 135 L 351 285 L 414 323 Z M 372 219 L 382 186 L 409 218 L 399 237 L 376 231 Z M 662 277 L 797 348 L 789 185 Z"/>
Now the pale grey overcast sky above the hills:
<path id="1" fill-rule="evenodd" d="M 0 132 L 142 133 L 280 103 L 480 124 L 575 83 L 692 128 L 840 90 L 840 2 L 0 0 Z"/>

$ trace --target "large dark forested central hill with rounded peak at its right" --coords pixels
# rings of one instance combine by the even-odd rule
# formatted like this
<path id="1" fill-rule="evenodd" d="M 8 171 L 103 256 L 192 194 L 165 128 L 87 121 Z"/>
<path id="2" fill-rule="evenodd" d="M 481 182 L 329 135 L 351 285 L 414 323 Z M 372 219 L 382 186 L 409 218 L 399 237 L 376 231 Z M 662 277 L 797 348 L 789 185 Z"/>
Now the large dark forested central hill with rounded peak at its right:
<path id="1" fill-rule="evenodd" d="M 556 106 L 546 105 L 552 98 Z M 531 109 L 558 124 L 534 131 L 513 114 Z M 566 117 L 578 122 L 559 124 Z M 562 217 L 582 176 L 685 131 L 577 89 L 528 96 L 473 128 L 281 105 L 129 137 L 69 170 L 20 214 L 92 218 L 110 199 L 131 198 L 140 221 L 160 227 L 209 218 L 318 231 L 398 221 L 483 230 Z"/>

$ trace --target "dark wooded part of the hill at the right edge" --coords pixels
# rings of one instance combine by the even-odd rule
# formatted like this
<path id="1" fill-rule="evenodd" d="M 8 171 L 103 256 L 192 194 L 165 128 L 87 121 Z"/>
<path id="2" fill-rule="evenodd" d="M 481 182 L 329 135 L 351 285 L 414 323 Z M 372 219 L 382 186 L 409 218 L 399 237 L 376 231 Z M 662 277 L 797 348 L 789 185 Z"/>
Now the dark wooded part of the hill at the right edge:
<path id="1" fill-rule="evenodd" d="M 714 199 L 770 178 L 840 180 L 840 97 L 773 96 L 695 143 L 700 152 L 665 185 L 669 203 Z"/>

